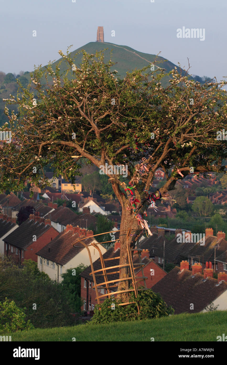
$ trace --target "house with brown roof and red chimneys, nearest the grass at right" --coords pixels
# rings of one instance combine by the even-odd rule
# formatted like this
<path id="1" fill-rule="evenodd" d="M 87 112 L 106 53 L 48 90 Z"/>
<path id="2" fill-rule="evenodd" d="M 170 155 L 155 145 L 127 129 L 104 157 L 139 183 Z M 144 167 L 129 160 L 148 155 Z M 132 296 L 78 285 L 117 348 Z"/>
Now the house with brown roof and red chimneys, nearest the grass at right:
<path id="1" fill-rule="evenodd" d="M 182 261 L 180 268 L 175 266 L 157 284 L 152 287 L 160 293 L 168 306 L 172 306 L 175 314 L 205 312 L 211 303 L 218 305 L 218 310 L 227 310 L 227 274 L 219 273 L 214 279 L 213 269 L 204 269 L 194 264 L 188 270 L 187 261 Z"/>

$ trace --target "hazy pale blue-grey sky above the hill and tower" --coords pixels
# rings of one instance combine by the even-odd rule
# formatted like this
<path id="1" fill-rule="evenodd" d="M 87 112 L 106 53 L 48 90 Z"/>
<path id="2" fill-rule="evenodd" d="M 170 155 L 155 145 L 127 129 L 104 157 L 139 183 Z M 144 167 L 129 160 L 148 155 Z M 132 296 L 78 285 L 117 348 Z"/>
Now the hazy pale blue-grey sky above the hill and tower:
<path id="1" fill-rule="evenodd" d="M 73 0 L 74 1 L 74 0 Z M 104 41 L 157 54 L 192 66 L 199 76 L 227 76 L 226 0 L 0 0 L 1 58 L 5 73 L 32 71 L 59 59 L 58 50 L 75 50 Z M 205 29 L 205 39 L 177 38 L 177 29 Z M 32 36 L 36 30 L 37 36 Z M 111 37 L 111 31 L 115 37 Z"/>

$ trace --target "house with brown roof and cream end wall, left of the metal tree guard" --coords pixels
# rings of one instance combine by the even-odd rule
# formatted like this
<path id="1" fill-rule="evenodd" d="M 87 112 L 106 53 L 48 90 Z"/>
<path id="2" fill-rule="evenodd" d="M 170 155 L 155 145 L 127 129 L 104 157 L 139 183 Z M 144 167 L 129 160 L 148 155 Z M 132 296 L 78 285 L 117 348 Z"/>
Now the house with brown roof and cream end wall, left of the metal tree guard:
<path id="1" fill-rule="evenodd" d="M 73 227 L 70 224 L 66 230 L 55 237 L 51 242 L 45 245 L 41 250 L 36 252 L 38 257 L 38 269 L 45 272 L 52 280 L 60 283 L 63 278 L 61 274 L 67 269 L 76 268 L 80 264 L 90 265 L 89 254 L 82 243 L 77 242 L 78 238 L 88 246 L 97 243 L 93 236 L 93 231 L 86 231 L 79 227 Z M 106 252 L 105 247 L 99 245 L 102 254 Z M 93 246 L 89 247 L 91 258 L 96 261 L 99 257 L 98 250 Z"/>

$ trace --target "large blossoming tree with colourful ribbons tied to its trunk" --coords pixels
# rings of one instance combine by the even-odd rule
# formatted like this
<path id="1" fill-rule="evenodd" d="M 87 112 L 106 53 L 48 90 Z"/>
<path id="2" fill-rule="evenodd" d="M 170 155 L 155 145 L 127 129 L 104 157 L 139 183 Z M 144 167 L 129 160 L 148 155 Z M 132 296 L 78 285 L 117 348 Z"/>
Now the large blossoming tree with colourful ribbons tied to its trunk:
<path id="1" fill-rule="evenodd" d="M 98 168 L 105 164 L 111 169 L 123 165 L 125 172 L 127 168 L 127 177 L 125 173 L 120 179 L 110 170 L 107 176 L 122 206 L 120 265 L 127 266 L 120 269 L 118 290 L 128 290 L 127 247 L 135 247 L 142 228 L 148 230 L 144 212 L 152 199 L 168 197 L 177 180 L 191 173 L 191 166 L 203 174 L 226 167 L 222 166 L 226 141 L 217 140 L 216 131 L 226 127 L 227 82 L 201 85 L 189 80 L 187 71 L 179 74 L 175 68 L 163 88 L 161 81 L 167 76 L 163 68 L 133 70 L 121 80 L 116 70 L 111 72 L 114 63 L 104 62 L 102 51 L 95 55 L 83 51 L 79 68 L 69 50 L 59 54 L 62 60 L 55 69 L 51 64 L 35 68 L 33 90 L 28 85 L 20 98 L 7 101 L 19 104 L 19 115 L 9 115 L 5 109 L 18 142 L 3 143 L 0 150 L 0 189 L 18 189 L 28 178 L 38 184 L 50 162 L 56 176 L 62 174 L 66 180 L 76 178 L 84 158 Z M 66 74 L 60 74 L 63 61 Z M 160 191 L 150 193 L 158 168 L 167 180 Z M 42 178 L 42 183 L 47 180 Z M 129 295 L 122 293 L 120 298 L 128 301 Z"/>

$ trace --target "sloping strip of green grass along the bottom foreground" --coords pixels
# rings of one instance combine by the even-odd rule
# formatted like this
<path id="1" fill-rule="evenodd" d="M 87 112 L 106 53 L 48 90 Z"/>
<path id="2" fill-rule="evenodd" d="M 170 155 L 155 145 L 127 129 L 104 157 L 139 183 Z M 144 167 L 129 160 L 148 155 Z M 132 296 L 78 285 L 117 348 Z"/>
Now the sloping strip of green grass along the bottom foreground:
<path id="1" fill-rule="evenodd" d="M 12 333 L 12 341 L 217 341 L 227 335 L 227 311 L 179 314 L 137 322 L 49 328 Z M 9 335 L 1 333 L 1 335 Z"/>

